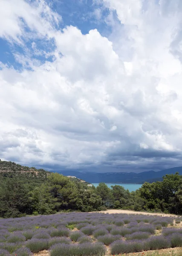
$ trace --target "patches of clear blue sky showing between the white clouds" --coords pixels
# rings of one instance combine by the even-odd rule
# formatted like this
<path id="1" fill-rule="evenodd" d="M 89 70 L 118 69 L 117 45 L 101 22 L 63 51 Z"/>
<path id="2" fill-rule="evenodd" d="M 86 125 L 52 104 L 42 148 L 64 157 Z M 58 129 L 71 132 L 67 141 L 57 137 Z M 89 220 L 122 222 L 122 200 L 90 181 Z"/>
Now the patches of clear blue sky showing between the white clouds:
<path id="1" fill-rule="evenodd" d="M 27 1 L 35 3 L 36 1 Z M 92 0 L 67 0 L 58 1 L 52 0 L 46 2 L 50 8 L 61 16 L 61 21 L 56 25 L 56 29 L 61 30 L 66 26 L 75 26 L 81 30 L 82 34 L 89 33 L 92 29 L 98 29 L 103 36 L 109 36 L 112 32 L 110 24 L 106 22 L 107 16 L 110 14 L 109 9 L 103 5 L 103 3 L 97 3 Z M 119 24 L 116 12 L 112 12 L 115 22 Z M 43 15 L 43 14 L 41 14 Z M 21 19 L 21 17 L 20 17 Z M 22 19 L 23 20 L 23 19 Z M 25 22 L 25 20 L 23 20 Z M 25 22 L 26 23 L 26 22 Z M 29 27 L 25 26 L 26 32 L 30 32 Z M 52 61 L 52 58 L 45 58 L 43 55 L 37 55 L 32 50 L 32 43 L 37 45 L 37 48 L 41 51 L 51 52 L 55 49 L 54 40 L 45 41 L 45 38 L 32 38 L 26 40 L 23 38 L 23 47 L 19 44 L 12 44 L 6 40 L 6 38 L 0 38 L 0 60 L 3 64 L 13 66 L 15 69 L 21 69 L 22 65 L 16 61 L 14 54 L 29 54 L 32 58 L 40 60 L 42 63 L 45 61 Z"/>

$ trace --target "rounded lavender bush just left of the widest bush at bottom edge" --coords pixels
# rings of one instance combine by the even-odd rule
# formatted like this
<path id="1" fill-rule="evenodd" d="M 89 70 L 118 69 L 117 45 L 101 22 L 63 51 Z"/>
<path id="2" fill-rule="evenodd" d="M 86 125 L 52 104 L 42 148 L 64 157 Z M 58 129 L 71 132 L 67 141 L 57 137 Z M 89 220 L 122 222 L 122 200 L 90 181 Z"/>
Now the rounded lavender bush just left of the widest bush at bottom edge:
<path id="1" fill-rule="evenodd" d="M 49 248 L 48 239 L 31 239 L 26 242 L 28 247 L 33 253 L 38 253 L 41 250 L 47 250 Z"/>

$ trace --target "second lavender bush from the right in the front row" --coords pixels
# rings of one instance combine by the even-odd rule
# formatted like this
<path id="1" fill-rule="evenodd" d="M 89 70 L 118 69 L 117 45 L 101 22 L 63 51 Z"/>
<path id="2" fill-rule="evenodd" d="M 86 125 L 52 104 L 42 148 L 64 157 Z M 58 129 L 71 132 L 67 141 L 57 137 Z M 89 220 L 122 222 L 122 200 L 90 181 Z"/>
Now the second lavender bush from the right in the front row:
<path id="1" fill-rule="evenodd" d="M 159 250 L 170 247 L 170 241 L 165 239 L 164 236 L 152 236 L 145 243 L 145 249 L 147 250 Z"/>

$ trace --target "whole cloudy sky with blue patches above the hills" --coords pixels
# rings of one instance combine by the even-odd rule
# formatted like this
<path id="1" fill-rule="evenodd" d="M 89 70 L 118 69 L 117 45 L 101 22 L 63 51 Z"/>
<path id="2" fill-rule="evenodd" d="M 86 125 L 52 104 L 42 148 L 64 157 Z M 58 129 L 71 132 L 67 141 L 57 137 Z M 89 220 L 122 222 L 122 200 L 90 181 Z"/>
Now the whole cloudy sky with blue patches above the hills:
<path id="1" fill-rule="evenodd" d="M 182 166 L 182 1 L 1 0 L 0 159 Z"/>

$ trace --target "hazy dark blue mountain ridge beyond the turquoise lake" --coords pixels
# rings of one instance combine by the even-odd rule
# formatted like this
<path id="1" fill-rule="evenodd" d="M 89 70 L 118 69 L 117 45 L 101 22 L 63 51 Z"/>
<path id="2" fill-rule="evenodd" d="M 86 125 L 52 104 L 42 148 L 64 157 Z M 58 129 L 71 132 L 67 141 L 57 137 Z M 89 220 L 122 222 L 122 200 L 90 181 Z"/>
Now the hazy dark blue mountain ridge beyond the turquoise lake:
<path id="1" fill-rule="evenodd" d="M 61 171 L 59 173 L 63 175 L 76 176 L 79 179 L 86 180 L 90 183 L 133 183 L 142 184 L 145 181 L 152 183 L 157 180 L 162 180 L 162 176 L 166 174 L 174 174 L 179 172 L 182 175 L 182 166 L 165 169 L 159 172 L 106 172 L 106 173 L 93 173 L 93 172 L 78 172 L 78 171 Z"/>

